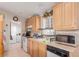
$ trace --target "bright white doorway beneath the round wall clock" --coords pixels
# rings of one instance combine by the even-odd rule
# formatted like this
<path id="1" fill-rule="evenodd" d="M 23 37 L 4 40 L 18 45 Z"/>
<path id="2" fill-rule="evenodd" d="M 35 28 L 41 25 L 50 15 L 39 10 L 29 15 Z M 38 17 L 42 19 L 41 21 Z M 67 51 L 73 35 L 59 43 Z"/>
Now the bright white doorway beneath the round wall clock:
<path id="1" fill-rule="evenodd" d="M 21 42 L 21 22 L 11 21 L 11 31 L 10 31 L 10 43 L 20 43 Z"/>

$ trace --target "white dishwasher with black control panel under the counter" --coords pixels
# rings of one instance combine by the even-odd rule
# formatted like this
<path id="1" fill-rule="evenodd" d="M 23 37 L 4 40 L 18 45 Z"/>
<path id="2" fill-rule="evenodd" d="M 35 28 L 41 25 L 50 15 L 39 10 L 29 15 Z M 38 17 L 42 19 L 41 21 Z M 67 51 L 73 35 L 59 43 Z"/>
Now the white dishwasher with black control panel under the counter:
<path id="1" fill-rule="evenodd" d="M 47 45 L 47 57 L 69 57 L 69 51 Z"/>

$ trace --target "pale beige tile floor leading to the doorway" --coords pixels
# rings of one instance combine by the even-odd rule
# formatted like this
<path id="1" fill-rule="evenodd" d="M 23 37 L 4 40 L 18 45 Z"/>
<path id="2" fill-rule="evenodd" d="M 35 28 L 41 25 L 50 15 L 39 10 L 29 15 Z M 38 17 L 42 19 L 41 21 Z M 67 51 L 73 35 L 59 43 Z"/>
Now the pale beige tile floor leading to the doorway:
<path id="1" fill-rule="evenodd" d="M 5 52 L 4 57 L 30 57 L 21 48 L 20 43 L 10 44 L 9 50 Z"/>

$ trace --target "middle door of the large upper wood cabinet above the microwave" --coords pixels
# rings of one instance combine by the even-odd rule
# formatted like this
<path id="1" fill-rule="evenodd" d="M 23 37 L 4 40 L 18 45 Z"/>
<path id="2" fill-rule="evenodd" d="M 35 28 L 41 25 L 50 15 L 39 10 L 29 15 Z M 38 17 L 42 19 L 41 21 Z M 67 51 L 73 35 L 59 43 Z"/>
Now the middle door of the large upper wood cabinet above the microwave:
<path id="1" fill-rule="evenodd" d="M 64 3 L 64 20 L 63 25 L 65 26 L 71 26 L 72 22 L 72 3 Z"/>

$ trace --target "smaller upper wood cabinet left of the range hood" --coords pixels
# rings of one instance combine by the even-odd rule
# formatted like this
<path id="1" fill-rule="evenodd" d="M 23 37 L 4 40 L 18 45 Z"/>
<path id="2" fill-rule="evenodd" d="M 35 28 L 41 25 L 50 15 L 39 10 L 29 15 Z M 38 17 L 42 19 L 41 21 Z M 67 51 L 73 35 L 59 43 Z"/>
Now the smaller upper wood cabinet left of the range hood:
<path id="1" fill-rule="evenodd" d="M 26 20 L 26 29 L 28 26 L 32 26 L 33 32 L 38 32 L 40 28 L 40 16 L 32 16 Z"/>

